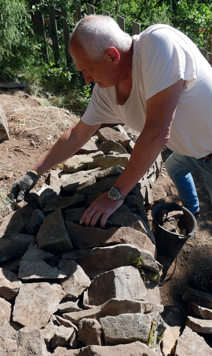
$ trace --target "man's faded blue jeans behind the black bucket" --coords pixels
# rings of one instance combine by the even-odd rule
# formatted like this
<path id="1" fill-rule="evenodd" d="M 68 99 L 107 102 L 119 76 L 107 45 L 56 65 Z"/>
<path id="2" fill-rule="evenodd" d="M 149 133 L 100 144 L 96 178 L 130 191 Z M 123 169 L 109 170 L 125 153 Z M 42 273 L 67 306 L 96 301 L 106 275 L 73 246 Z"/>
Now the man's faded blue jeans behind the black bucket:
<path id="1" fill-rule="evenodd" d="M 212 157 L 209 159 L 182 156 L 174 152 L 166 161 L 165 167 L 175 183 L 182 204 L 192 214 L 199 210 L 199 200 L 191 172 L 199 169 L 212 204 Z"/>

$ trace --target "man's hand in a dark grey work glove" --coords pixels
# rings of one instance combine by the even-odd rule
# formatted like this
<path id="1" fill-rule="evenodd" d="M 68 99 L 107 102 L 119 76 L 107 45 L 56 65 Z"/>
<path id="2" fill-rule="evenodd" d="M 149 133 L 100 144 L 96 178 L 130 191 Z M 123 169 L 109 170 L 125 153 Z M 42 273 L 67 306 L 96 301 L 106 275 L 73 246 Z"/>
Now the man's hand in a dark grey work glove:
<path id="1" fill-rule="evenodd" d="M 23 177 L 13 183 L 10 198 L 12 200 L 16 199 L 16 202 L 23 200 L 25 193 L 37 183 L 40 177 L 33 171 L 27 171 Z"/>

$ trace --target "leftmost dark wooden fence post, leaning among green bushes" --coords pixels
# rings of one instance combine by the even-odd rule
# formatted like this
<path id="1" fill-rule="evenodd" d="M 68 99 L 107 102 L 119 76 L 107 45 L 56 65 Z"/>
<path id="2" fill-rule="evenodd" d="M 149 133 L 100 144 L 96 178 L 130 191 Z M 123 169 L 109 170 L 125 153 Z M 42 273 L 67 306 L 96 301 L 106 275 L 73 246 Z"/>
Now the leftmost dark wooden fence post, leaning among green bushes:
<path id="1" fill-rule="evenodd" d="M 43 18 L 43 10 L 42 10 L 42 2 L 41 0 L 30 0 L 31 6 L 35 6 L 37 8 L 39 6 L 39 10 L 35 10 L 35 30 L 36 33 L 39 35 L 39 42 L 46 42 L 46 36 L 45 36 L 45 25 L 44 25 L 44 18 Z M 42 57 L 43 60 L 48 62 L 48 50 L 47 47 L 42 46 L 41 47 L 42 51 Z"/>

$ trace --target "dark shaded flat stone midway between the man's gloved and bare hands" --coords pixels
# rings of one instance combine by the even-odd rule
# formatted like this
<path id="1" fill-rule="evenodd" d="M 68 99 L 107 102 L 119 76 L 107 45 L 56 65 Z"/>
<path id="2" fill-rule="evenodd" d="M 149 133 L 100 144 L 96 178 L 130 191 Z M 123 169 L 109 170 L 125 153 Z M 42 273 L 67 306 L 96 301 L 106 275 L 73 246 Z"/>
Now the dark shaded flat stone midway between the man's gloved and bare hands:
<path id="1" fill-rule="evenodd" d="M 77 208 L 83 204 L 84 201 L 84 195 L 61 196 L 59 194 L 46 203 L 43 213 L 48 215 L 58 209 Z"/>

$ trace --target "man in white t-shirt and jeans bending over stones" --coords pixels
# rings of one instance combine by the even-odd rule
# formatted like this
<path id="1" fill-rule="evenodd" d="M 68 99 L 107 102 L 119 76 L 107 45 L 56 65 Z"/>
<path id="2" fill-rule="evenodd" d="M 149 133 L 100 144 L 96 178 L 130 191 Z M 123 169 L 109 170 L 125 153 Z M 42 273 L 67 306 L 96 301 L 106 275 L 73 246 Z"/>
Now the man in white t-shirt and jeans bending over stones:
<path id="1" fill-rule="evenodd" d="M 198 48 L 167 25 L 150 26 L 130 38 L 110 17 L 91 15 L 76 25 L 70 53 L 85 81 L 96 83 L 91 102 L 34 172 L 14 183 L 12 196 L 23 198 L 38 175 L 71 157 L 101 123 L 124 122 L 140 133 L 131 158 L 116 186 L 90 205 L 81 223 L 95 226 L 101 218 L 104 228 L 165 144 L 174 151 L 167 170 L 183 205 L 198 213 L 189 172 L 200 168 L 212 199 L 212 69 Z"/>

